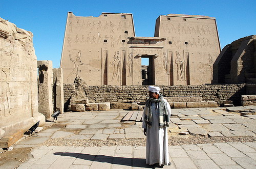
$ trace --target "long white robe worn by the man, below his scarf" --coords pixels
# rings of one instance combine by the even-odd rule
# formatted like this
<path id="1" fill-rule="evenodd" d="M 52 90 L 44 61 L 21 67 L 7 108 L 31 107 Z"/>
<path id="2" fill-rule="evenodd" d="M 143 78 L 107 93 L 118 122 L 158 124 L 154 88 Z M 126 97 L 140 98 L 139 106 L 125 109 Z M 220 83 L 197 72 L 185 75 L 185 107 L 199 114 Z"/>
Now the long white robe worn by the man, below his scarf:
<path id="1" fill-rule="evenodd" d="M 170 105 L 164 100 L 164 104 L 167 107 L 168 117 L 170 118 Z M 145 111 L 145 109 L 144 109 Z M 143 123 L 142 128 L 146 130 L 146 164 L 159 165 L 169 163 L 169 151 L 168 151 L 168 127 L 159 128 L 159 106 L 152 103 L 152 126 L 149 127 L 144 121 L 143 112 Z"/>

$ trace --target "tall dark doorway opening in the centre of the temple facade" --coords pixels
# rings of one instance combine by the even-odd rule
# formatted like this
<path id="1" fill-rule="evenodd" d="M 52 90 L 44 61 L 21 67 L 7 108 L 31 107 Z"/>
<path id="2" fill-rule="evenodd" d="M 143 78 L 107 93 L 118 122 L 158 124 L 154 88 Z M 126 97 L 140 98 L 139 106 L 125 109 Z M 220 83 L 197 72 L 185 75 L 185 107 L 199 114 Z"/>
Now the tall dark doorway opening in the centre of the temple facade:
<path id="1" fill-rule="evenodd" d="M 142 85 L 155 85 L 154 55 L 141 56 Z"/>

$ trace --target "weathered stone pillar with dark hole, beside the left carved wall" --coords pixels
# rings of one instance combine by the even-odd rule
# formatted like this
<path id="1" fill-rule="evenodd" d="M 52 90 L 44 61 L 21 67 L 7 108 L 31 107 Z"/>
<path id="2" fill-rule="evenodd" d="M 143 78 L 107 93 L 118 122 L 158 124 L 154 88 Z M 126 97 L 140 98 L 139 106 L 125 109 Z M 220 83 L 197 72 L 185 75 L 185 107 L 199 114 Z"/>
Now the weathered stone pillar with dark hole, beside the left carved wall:
<path id="1" fill-rule="evenodd" d="M 46 119 L 53 114 L 52 103 L 52 61 L 37 61 L 38 80 L 38 111 Z"/>

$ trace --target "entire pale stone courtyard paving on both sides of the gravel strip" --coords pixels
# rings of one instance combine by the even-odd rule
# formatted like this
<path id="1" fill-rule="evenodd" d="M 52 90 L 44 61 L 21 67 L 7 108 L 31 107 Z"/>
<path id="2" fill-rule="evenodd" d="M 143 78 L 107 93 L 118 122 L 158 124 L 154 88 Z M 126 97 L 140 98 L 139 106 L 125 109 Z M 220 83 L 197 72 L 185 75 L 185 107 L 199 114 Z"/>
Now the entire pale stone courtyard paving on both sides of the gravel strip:
<path id="1" fill-rule="evenodd" d="M 256 106 L 239 107 L 242 111 Z M 37 137 L 23 139 L 16 148 L 32 147 L 33 155 L 18 168 L 147 168 L 145 147 L 73 147 L 76 140 L 99 142 L 108 139 L 145 138 L 141 123 L 120 122 L 127 110 L 70 112 L 47 122 Z M 220 137 L 255 136 L 256 117 L 241 117 L 223 108 L 172 109 L 173 133 Z M 70 146 L 55 146 L 59 140 Z M 254 139 L 255 140 L 255 139 Z M 46 143 L 50 146 L 42 146 Z M 48 144 L 48 145 L 49 145 Z M 164 168 L 256 168 L 256 143 L 215 143 L 169 146 L 173 165 Z M 4 167 L 4 166 L 0 166 Z M 4 167 L 8 168 L 8 167 Z"/>

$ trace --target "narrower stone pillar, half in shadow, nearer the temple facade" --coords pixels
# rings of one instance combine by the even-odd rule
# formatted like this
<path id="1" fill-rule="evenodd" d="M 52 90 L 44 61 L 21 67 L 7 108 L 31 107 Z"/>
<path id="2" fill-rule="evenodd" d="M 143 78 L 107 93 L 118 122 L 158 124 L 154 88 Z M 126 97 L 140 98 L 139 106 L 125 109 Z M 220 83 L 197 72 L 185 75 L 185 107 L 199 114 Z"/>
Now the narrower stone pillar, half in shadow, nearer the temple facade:
<path id="1" fill-rule="evenodd" d="M 53 108 L 54 111 L 64 112 L 64 92 L 62 68 L 53 69 Z"/>

